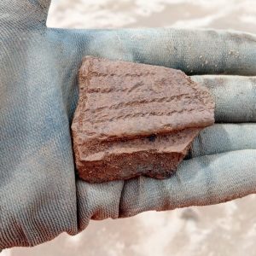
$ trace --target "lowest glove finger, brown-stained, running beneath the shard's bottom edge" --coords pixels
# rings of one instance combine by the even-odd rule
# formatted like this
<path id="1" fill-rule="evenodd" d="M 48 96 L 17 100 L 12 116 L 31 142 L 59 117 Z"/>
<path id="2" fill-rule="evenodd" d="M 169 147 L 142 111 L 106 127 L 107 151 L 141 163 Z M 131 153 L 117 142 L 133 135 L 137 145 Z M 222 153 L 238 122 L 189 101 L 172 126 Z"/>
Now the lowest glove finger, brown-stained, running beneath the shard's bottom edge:
<path id="1" fill-rule="evenodd" d="M 79 180 L 79 230 L 90 218 L 206 206 L 256 193 L 255 163 L 256 150 L 247 149 L 184 160 L 177 172 L 164 180 L 139 177 L 100 184 Z"/>

